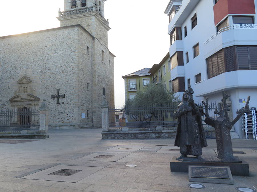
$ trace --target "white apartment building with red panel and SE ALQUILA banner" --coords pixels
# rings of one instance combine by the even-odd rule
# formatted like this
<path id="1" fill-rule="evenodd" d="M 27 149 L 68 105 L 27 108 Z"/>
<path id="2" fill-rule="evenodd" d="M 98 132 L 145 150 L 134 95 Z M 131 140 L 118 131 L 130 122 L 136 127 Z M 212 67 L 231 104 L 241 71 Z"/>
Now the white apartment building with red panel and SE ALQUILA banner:
<path id="1" fill-rule="evenodd" d="M 188 84 L 195 102 L 232 95 L 232 115 L 257 107 L 257 0 L 170 0 L 170 84 L 182 97 Z M 244 137 L 241 122 L 234 126 Z"/>

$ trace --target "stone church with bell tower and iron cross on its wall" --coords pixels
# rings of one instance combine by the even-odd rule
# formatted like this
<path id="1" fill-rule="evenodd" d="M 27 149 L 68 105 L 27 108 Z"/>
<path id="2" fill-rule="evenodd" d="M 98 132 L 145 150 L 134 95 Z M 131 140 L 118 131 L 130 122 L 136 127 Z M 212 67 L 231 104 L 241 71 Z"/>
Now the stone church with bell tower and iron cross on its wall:
<path id="1" fill-rule="evenodd" d="M 60 27 L 0 37 L 0 110 L 49 107 L 49 129 L 101 126 L 114 106 L 106 0 L 64 0 Z"/>

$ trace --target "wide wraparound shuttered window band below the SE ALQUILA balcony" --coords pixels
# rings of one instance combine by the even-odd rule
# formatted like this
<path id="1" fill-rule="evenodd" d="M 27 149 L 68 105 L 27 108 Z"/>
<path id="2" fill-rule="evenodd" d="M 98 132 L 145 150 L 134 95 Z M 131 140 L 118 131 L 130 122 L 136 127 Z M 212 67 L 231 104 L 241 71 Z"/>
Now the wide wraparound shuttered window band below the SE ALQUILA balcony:
<path id="1" fill-rule="evenodd" d="M 208 79 L 224 72 L 257 70 L 257 46 L 232 46 L 206 59 Z"/>

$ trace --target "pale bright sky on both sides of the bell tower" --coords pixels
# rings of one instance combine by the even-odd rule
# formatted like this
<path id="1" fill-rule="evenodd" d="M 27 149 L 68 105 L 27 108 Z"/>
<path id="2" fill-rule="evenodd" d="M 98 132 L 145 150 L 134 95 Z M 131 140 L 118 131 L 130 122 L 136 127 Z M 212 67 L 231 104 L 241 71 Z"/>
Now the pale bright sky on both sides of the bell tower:
<path id="1" fill-rule="evenodd" d="M 169 0 L 108 0 L 105 18 L 109 19 L 108 48 L 116 56 L 115 105 L 125 103 L 123 75 L 160 63 L 168 53 Z M 63 0 L 0 0 L 0 36 L 59 27 L 58 10 Z"/>

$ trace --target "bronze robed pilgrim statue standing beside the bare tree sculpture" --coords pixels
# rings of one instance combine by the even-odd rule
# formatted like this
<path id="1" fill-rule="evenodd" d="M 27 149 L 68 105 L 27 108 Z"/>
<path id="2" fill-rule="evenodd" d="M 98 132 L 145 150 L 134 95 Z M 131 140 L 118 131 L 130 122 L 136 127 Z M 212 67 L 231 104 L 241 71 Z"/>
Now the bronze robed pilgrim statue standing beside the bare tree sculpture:
<path id="1" fill-rule="evenodd" d="M 199 160 L 202 155 L 202 147 L 207 146 L 202 117 L 198 106 L 194 103 L 194 91 L 190 85 L 184 91 L 182 102 L 178 105 L 174 118 L 178 119 L 178 129 L 175 146 L 180 147 L 181 156 L 177 160 L 184 160 L 186 155 L 196 156 Z"/>

